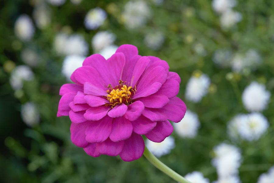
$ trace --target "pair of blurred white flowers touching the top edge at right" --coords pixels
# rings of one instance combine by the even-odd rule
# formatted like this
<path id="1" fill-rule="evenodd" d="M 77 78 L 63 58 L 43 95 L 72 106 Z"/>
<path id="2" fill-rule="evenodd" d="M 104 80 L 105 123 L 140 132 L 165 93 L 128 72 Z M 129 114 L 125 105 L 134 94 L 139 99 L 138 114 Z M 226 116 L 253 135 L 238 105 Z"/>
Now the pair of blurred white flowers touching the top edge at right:
<path id="1" fill-rule="evenodd" d="M 242 15 L 239 12 L 234 11 L 232 8 L 236 6 L 235 0 L 213 0 L 213 10 L 220 14 L 221 26 L 224 29 L 234 26 L 236 23 L 241 21 Z"/>

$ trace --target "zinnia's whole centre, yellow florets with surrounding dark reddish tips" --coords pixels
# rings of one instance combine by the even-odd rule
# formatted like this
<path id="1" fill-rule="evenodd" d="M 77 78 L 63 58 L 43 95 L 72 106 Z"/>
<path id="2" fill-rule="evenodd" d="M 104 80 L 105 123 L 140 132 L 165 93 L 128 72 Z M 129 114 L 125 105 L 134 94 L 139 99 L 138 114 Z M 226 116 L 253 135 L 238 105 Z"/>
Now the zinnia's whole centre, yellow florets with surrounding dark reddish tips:
<path id="1" fill-rule="evenodd" d="M 118 104 L 132 104 L 133 100 L 131 99 L 132 93 L 135 93 L 135 90 L 132 89 L 131 86 L 127 86 L 123 83 L 123 81 L 119 81 L 120 85 L 116 86 L 114 89 L 112 88 L 111 85 L 109 85 L 109 89 L 107 90 L 107 100 L 110 102 L 110 105 L 112 108 L 115 107 Z M 123 84 L 123 85 L 122 85 Z"/>

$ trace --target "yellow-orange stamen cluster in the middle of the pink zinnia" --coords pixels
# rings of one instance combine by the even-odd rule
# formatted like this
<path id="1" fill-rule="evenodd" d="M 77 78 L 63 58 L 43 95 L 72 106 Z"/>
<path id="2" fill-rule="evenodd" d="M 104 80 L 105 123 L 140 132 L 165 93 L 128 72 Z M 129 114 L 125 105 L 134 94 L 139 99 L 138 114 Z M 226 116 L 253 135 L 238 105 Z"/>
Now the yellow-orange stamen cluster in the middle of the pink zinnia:
<path id="1" fill-rule="evenodd" d="M 126 85 L 123 85 L 123 87 L 118 88 L 118 89 L 112 89 L 111 91 L 107 90 L 107 100 L 112 103 L 110 104 L 111 107 L 115 107 L 118 104 L 121 104 L 124 102 L 125 104 L 130 104 L 131 103 L 131 91 L 132 87 L 127 87 Z"/>

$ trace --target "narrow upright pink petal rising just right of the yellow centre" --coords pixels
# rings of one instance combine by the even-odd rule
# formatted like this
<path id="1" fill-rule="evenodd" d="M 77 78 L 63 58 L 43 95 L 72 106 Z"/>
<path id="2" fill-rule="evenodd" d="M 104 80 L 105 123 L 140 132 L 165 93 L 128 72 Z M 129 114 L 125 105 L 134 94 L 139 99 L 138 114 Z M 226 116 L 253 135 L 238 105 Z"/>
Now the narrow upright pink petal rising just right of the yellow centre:
<path id="1" fill-rule="evenodd" d="M 145 71 L 146 66 L 148 65 L 149 62 L 150 62 L 150 60 L 146 56 L 141 57 L 137 61 L 136 65 L 134 67 L 134 70 L 132 72 L 132 80 L 131 80 L 130 86 L 134 87 L 136 85 L 137 81 L 139 80 L 139 78 L 141 77 L 143 72 Z"/>

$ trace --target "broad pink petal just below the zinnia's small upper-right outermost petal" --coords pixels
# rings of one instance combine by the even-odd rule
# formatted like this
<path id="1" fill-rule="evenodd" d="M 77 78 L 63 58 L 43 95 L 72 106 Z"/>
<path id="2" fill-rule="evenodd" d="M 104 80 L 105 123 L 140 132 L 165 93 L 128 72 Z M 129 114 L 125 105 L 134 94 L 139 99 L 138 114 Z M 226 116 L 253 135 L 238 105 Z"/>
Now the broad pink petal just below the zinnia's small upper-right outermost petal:
<path id="1" fill-rule="evenodd" d="M 167 79 L 156 94 L 163 94 L 168 98 L 175 97 L 179 93 L 180 84 L 175 79 Z"/>

